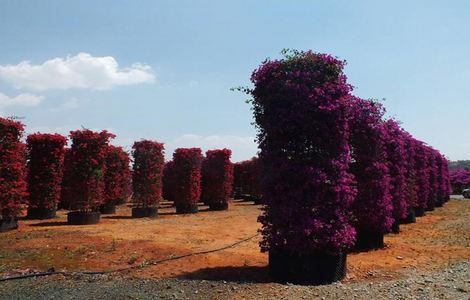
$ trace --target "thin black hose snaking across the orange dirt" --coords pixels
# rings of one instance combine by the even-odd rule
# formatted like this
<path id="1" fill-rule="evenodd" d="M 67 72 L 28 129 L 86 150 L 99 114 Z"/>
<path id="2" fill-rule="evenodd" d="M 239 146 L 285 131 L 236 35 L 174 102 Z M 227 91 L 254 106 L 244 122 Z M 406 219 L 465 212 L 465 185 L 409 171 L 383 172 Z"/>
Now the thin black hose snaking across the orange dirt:
<path id="1" fill-rule="evenodd" d="M 114 269 L 114 270 L 104 270 L 104 271 L 80 271 L 80 272 L 61 272 L 61 271 L 47 271 L 47 272 L 39 272 L 39 273 L 31 273 L 31 274 L 24 274 L 24 275 L 18 275 L 18 276 L 9 276 L 5 278 L 0 278 L 0 282 L 2 281 L 9 281 L 9 280 L 16 280 L 16 279 L 25 279 L 25 278 L 31 278 L 31 277 L 42 277 L 42 276 L 49 276 L 49 275 L 64 275 L 64 276 L 72 276 L 72 275 L 101 275 L 101 274 L 109 274 L 109 273 L 117 273 L 117 272 L 123 272 L 123 271 L 128 271 L 132 269 L 138 269 L 138 268 L 145 268 L 147 266 L 155 266 L 158 264 L 162 264 L 168 261 L 173 261 L 173 260 L 178 260 L 190 256 L 196 256 L 196 255 L 204 255 L 204 254 L 209 254 L 209 253 L 214 253 L 214 252 L 219 252 L 223 250 L 227 250 L 233 247 L 236 247 L 240 244 L 243 244 L 245 242 L 248 242 L 255 237 L 257 237 L 259 233 L 252 235 L 248 238 L 245 238 L 241 241 L 235 242 L 230 245 L 223 246 L 221 248 L 216 248 L 212 250 L 205 250 L 205 251 L 199 251 L 199 252 L 192 252 L 192 253 L 187 253 L 183 255 L 178 255 L 178 256 L 172 256 L 172 257 L 167 257 L 159 260 L 153 260 L 149 262 L 145 262 L 140 265 L 135 265 L 135 266 L 130 266 L 126 268 L 121 268 L 121 269 Z"/>

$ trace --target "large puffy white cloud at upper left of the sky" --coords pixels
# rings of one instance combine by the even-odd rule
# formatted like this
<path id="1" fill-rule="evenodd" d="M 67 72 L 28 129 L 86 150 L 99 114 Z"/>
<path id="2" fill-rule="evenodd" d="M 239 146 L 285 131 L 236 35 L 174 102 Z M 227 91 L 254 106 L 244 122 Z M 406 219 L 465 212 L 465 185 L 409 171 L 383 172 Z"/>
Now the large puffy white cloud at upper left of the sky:
<path id="1" fill-rule="evenodd" d="M 95 57 L 79 53 L 56 57 L 40 65 L 22 61 L 17 65 L 0 65 L 0 79 L 17 89 L 110 89 L 113 86 L 149 83 L 155 80 L 152 68 L 135 63 L 119 68 L 112 56 Z"/>

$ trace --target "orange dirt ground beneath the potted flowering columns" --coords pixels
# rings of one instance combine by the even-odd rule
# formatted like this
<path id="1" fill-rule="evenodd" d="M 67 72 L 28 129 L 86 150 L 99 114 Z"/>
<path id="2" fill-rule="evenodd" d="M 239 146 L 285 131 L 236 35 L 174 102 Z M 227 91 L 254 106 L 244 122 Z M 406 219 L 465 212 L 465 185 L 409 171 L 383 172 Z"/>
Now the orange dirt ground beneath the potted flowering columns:
<path id="1" fill-rule="evenodd" d="M 17 231 L 0 235 L 0 276 L 26 269 L 109 270 L 204 251 L 256 234 L 259 206 L 235 201 L 225 212 L 176 215 L 164 203 L 157 219 L 131 219 L 122 206 L 102 216 L 98 225 L 69 226 L 66 212 L 58 218 L 21 221 Z M 346 282 L 400 277 L 409 268 L 434 270 L 470 258 L 470 201 L 452 200 L 416 224 L 402 225 L 387 235 L 381 250 L 348 256 Z M 267 255 L 259 237 L 224 251 L 136 268 L 128 276 L 146 278 L 268 281 Z"/>

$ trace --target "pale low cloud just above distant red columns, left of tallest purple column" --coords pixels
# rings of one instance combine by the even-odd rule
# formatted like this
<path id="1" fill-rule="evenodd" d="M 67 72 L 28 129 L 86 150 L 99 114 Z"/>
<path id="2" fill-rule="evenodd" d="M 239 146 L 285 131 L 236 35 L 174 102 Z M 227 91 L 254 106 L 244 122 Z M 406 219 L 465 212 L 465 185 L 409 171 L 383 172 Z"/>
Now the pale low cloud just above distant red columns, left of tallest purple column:
<path id="1" fill-rule="evenodd" d="M 204 152 L 211 149 L 228 148 L 232 150 L 232 161 L 250 159 L 257 153 L 257 145 L 252 136 L 185 134 L 165 143 L 167 159 L 171 159 L 176 148 L 200 147 Z"/>

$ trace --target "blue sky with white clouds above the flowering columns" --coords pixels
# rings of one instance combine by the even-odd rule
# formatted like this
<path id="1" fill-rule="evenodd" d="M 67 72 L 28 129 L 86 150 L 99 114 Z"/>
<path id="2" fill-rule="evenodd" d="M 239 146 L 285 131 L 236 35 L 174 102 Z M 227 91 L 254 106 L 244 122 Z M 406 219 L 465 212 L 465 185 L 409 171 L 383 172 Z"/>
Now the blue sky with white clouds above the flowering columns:
<path id="1" fill-rule="evenodd" d="M 470 159 L 469 32 L 466 0 L 0 0 L 0 114 L 247 159 L 252 115 L 230 88 L 283 48 L 312 49 L 347 60 L 354 93 L 385 98 L 416 138 Z"/>

